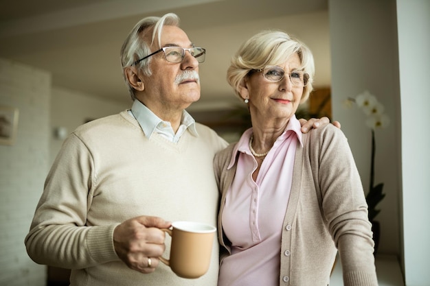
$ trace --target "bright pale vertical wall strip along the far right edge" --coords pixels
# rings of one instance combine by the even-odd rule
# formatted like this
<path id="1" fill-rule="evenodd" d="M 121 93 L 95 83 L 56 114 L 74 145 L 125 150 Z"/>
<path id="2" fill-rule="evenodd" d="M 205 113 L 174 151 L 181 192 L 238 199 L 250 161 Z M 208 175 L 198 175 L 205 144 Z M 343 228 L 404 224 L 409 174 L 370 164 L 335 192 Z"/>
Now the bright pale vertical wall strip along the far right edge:
<path id="1" fill-rule="evenodd" d="M 397 0 L 407 286 L 430 281 L 430 1 Z"/>

